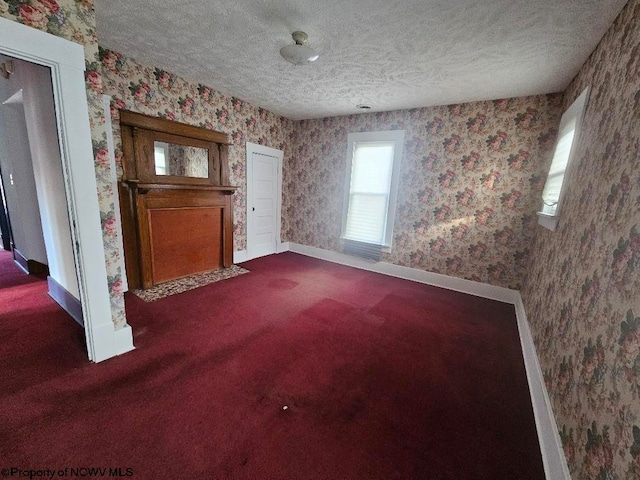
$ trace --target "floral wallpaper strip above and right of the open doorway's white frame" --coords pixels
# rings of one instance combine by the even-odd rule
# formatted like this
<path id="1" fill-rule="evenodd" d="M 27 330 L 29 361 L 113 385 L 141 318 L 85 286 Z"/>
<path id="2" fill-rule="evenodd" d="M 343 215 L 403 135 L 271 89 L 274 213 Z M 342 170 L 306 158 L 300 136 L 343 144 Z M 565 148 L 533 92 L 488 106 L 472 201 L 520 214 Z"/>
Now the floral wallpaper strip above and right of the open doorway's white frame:
<path id="1" fill-rule="evenodd" d="M 115 229 L 114 192 L 106 150 L 105 119 L 102 109 L 102 82 L 98 63 L 96 20 L 92 0 L 0 0 L 0 15 L 38 30 L 84 46 L 87 62 L 87 102 L 95 153 L 94 163 L 102 221 L 105 263 L 116 328 L 125 325 L 122 292 L 123 259 L 120 258 Z M 87 161 L 91 161 L 87 159 Z"/>

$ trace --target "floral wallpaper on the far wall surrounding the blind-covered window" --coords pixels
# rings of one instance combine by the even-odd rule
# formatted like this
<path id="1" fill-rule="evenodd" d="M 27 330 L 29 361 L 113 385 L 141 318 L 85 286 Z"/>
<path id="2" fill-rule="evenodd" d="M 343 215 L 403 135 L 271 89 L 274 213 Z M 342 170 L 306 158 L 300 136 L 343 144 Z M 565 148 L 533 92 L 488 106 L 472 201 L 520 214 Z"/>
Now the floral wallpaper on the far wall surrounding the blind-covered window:
<path id="1" fill-rule="evenodd" d="M 405 130 L 398 265 L 520 288 L 561 95 L 303 120 L 283 206 L 287 239 L 340 251 L 347 134 Z"/>

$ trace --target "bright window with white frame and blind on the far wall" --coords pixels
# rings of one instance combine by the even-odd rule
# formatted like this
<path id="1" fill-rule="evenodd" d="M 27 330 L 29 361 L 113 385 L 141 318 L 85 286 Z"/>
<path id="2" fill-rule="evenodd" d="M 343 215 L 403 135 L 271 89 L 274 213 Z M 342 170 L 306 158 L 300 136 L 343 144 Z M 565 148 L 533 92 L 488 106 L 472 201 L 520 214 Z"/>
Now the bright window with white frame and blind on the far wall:
<path id="1" fill-rule="evenodd" d="M 391 248 L 403 143 L 404 130 L 349 134 L 342 219 L 346 243 Z"/>

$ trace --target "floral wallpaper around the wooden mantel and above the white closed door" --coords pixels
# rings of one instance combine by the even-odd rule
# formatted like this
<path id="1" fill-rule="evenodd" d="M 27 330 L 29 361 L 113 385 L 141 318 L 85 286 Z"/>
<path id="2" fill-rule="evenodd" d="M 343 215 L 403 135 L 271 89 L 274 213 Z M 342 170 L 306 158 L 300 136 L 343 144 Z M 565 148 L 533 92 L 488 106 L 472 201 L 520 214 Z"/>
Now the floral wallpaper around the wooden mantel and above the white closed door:
<path id="1" fill-rule="evenodd" d="M 122 176 L 121 109 L 229 134 L 233 142 L 229 149 L 230 181 L 239 187 L 234 195 L 234 249 L 246 249 L 245 144 L 252 142 L 284 150 L 286 161 L 294 122 L 102 47 L 99 49 L 99 64 L 104 93 L 112 96 L 118 177 Z M 102 148 L 106 152 L 106 143 Z"/>

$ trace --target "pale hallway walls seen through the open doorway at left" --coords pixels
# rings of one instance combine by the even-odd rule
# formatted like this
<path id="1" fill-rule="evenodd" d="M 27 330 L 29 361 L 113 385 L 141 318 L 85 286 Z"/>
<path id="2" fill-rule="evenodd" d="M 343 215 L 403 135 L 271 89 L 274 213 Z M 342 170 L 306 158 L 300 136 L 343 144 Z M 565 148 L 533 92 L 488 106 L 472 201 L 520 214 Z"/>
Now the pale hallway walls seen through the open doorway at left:
<path id="1" fill-rule="evenodd" d="M 53 103 L 51 69 L 0 55 L 0 168 L 9 247 L 49 295 L 84 325 Z"/>

